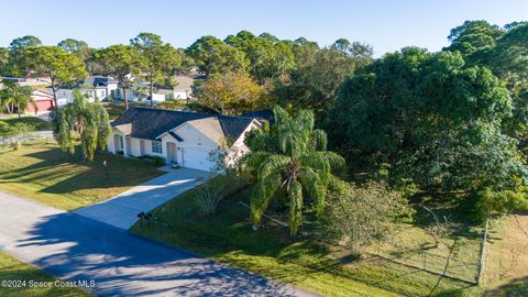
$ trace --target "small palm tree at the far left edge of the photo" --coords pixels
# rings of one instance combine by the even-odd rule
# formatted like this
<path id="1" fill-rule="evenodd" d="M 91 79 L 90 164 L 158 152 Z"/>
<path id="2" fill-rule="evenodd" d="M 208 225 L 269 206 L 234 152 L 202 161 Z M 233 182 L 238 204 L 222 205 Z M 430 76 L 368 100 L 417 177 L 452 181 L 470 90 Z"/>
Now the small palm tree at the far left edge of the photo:
<path id="1" fill-rule="evenodd" d="M 36 105 L 31 95 L 33 89 L 28 86 L 19 86 L 16 82 L 6 82 L 6 89 L 0 94 L 0 100 L 2 108 L 8 109 L 9 113 L 13 112 L 14 107 L 16 107 L 16 112 L 19 113 L 19 119 L 22 118 L 22 111 L 28 108 L 29 105 L 32 105 L 36 111 Z"/>

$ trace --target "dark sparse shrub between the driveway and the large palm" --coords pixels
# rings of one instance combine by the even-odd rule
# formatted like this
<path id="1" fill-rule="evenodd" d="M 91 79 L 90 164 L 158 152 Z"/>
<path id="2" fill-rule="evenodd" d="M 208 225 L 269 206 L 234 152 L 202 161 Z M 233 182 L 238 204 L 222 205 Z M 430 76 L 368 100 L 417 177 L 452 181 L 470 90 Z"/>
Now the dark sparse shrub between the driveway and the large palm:
<path id="1" fill-rule="evenodd" d="M 248 185 L 244 175 L 218 175 L 196 189 L 195 204 L 201 215 L 217 211 L 218 204 Z"/>

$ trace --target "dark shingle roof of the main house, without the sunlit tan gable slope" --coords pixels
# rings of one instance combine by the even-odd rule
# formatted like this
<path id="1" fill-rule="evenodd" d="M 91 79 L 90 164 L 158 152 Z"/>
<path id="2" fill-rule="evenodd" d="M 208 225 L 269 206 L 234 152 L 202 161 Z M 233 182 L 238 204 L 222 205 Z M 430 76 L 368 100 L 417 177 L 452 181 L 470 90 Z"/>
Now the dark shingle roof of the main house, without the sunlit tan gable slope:
<path id="1" fill-rule="evenodd" d="M 132 123 L 132 138 L 156 140 L 161 134 L 191 120 L 217 117 L 227 138 L 237 140 L 254 118 L 227 117 L 176 110 L 131 108 L 112 122 L 112 127 Z"/>

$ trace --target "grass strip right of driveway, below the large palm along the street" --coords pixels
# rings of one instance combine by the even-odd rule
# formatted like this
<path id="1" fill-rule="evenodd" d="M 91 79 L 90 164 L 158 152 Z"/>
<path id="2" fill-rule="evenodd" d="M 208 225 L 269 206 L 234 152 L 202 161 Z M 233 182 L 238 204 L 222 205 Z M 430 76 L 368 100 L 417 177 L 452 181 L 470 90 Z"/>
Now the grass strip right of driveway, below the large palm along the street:
<path id="1" fill-rule="evenodd" d="M 223 200 L 218 213 L 200 217 L 193 201 L 194 190 L 188 191 L 156 209 L 154 217 L 158 220 L 151 229 L 135 224 L 132 232 L 324 296 L 479 296 L 482 293 L 466 282 L 442 277 L 435 273 L 436 268 L 429 272 L 381 256 L 353 261 L 308 238 L 292 240 L 284 229 L 254 232 L 249 210 L 237 204 L 248 202 L 250 193 L 251 189 L 244 189 Z M 415 231 L 409 232 L 407 240 L 417 235 Z"/>

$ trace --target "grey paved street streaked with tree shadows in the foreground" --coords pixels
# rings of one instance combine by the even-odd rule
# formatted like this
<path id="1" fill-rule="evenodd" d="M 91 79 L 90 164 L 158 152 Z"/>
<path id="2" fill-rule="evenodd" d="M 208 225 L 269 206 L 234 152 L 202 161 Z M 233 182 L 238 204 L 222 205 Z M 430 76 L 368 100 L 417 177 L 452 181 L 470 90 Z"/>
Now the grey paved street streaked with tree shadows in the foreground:
<path id="1" fill-rule="evenodd" d="M 121 229 L 0 193 L 0 246 L 99 296 L 312 296 Z"/>

